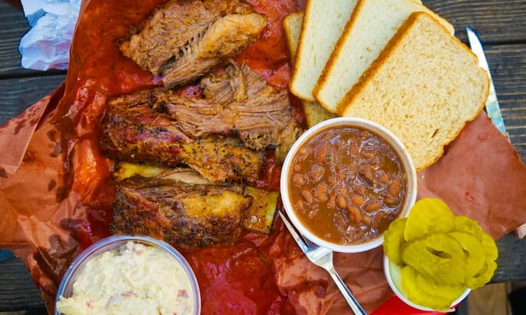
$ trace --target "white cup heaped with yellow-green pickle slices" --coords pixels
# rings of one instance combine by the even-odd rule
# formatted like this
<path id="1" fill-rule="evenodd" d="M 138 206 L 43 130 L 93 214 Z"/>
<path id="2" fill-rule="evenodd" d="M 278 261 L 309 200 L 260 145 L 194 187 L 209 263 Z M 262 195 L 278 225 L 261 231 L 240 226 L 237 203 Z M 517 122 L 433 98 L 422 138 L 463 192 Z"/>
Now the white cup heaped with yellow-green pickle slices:
<path id="1" fill-rule="evenodd" d="M 492 237 L 436 198 L 419 200 L 407 218 L 393 221 L 383 246 L 389 286 L 400 300 L 424 311 L 453 311 L 497 269 Z"/>

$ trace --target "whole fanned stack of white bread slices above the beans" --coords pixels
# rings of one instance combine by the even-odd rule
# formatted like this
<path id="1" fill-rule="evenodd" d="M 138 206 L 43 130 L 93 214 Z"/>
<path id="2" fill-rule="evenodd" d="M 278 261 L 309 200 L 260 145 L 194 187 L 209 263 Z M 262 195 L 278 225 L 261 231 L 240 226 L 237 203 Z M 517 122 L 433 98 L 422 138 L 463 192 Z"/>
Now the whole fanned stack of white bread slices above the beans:
<path id="1" fill-rule="evenodd" d="M 422 170 L 483 109 L 487 73 L 450 23 L 416 0 L 308 0 L 284 21 L 290 90 L 314 125 L 366 118 L 396 134 Z"/>

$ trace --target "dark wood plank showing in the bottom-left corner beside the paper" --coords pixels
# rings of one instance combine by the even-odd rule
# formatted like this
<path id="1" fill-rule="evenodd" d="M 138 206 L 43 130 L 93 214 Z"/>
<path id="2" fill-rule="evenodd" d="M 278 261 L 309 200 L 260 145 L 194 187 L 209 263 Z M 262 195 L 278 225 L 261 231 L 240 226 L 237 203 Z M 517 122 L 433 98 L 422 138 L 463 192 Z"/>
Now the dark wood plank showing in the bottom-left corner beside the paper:
<path id="1" fill-rule="evenodd" d="M 0 311 L 43 307 L 40 290 L 22 260 L 10 258 L 0 262 Z"/>

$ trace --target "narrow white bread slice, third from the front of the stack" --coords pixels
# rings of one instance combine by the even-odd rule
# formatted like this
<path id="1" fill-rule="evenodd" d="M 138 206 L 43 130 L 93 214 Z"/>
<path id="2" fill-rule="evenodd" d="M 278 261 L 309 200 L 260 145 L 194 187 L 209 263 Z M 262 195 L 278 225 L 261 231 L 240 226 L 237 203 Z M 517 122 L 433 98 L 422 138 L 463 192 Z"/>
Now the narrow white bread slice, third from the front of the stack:
<path id="1" fill-rule="evenodd" d="M 312 90 L 357 0 L 307 0 L 290 91 L 314 101 Z"/>

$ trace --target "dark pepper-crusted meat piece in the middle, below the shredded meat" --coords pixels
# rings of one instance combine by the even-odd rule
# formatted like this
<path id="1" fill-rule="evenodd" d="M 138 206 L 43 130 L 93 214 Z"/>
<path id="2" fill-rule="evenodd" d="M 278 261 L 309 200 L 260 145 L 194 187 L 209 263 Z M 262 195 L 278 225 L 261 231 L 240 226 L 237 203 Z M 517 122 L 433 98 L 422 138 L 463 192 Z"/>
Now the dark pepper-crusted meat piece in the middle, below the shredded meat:
<path id="1" fill-rule="evenodd" d="M 160 90 L 147 90 L 108 102 L 100 125 L 100 146 L 109 158 L 173 167 L 188 165 L 210 181 L 257 179 L 264 154 L 235 137 L 191 139 L 172 118 L 151 108 Z"/>

